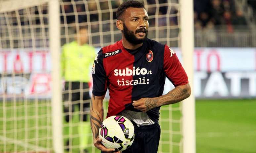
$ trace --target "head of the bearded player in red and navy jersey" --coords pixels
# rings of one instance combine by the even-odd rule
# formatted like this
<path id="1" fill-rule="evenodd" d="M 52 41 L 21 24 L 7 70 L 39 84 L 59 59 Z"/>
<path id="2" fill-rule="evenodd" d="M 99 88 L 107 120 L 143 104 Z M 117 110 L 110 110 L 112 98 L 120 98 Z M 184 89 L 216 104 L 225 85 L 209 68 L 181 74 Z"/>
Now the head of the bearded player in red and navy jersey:
<path id="1" fill-rule="evenodd" d="M 123 2 L 116 11 L 116 26 L 131 44 L 142 43 L 148 35 L 149 16 L 139 1 Z"/>

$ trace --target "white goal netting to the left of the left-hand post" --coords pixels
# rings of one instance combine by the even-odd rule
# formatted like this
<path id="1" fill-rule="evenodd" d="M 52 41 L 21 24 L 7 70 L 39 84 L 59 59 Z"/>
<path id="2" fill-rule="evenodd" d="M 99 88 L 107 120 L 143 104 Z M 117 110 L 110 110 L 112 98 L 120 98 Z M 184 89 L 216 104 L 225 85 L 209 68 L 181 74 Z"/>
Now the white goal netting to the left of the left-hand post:
<path id="1" fill-rule="evenodd" d="M 0 13 L 0 152 L 52 148 L 47 8 Z"/>

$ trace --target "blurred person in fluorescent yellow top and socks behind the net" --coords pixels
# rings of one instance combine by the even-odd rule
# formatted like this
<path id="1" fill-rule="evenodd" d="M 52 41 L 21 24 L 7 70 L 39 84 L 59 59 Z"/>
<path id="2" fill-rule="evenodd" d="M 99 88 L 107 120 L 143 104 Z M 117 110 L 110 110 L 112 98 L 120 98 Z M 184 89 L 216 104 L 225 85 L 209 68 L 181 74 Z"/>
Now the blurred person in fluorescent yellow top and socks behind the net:
<path id="1" fill-rule="evenodd" d="M 90 67 L 94 61 L 95 48 L 89 46 L 87 42 L 88 30 L 85 26 L 81 26 L 76 40 L 63 45 L 61 54 L 62 76 L 65 79 L 63 100 L 71 101 L 68 105 L 64 105 L 64 112 L 68 113 L 65 116 L 65 120 L 69 122 L 72 119 L 72 116 L 69 116 L 70 110 L 73 113 L 77 105 L 80 112 L 80 123 L 78 126 L 80 149 L 87 147 L 89 134 L 91 133 L 90 123 L 87 121 L 90 103 L 85 102 L 85 100 L 90 100 L 88 82 L 91 78 Z M 71 91 L 71 94 L 67 91 Z M 69 140 L 66 143 L 69 145 Z M 84 152 L 86 151 L 84 150 Z"/>

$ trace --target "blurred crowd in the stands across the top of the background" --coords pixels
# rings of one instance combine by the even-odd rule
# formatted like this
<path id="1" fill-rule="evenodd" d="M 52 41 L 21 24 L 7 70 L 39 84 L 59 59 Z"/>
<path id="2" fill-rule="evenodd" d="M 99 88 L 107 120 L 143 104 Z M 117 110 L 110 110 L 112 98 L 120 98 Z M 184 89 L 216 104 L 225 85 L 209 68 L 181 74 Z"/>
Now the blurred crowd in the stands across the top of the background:
<path id="1" fill-rule="evenodd" d="M 178 47 L 179 0 L 143 0 L 143 2 L 149 15 L 149 38 Z M 121 0 L 61 0 L 62 45 L 75 39 L 75 31 L 79 26 L 88 27 L 89 44 L 94 47 L 107 46 L 120 40 L 120 31 L 115 26 L 115 12 L 120 3 Z M 20 16 L 25 12 L 20 10 Z M 21 18 L 21 25 L 31 23 L 39 25 L 42 22 L 48 24 L 48 10 L 44 5 L 40 10 L 34 7 L 29 12 L 33 14 L 33 21 L 29 22 L 28 18 L 24 17 Z M 0 14 L 0 19 L 4 17 L 4 14 Z M 11 12 L 10 17 L 12 17 L 11 23 L 18 25 L 16 13 Z M 0 24 L 5 24 L 4 19 L 0 20 Z M 256 0 L 194 0 L 194 29 L 195 47 L 256 47 Z M 42 35 L 40 27 L 35 31 L 38 32 L 37 36 Z M 24 34 L 30 32 L 25 30 Z M 42 46 L 41 38 L 38 38 L 37 42 L 38 47 Z M 3 47 L 9 47 L 8 42 L 4 44 L 6 46 Z M 31 46 L 30 41 L 28 44 Z M 15 42 L 14 46 L 16 46 Z"/>

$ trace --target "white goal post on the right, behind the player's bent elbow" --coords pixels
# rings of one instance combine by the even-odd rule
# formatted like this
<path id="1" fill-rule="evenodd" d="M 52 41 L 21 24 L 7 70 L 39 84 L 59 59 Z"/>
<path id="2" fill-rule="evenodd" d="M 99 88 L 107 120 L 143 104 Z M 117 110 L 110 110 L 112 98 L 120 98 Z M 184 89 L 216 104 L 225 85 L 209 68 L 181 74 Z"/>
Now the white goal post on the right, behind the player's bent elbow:
<path id="1" fill-rule="evenodd" d="M 181 50 L 183 66 L 189 77 L 192 89 L 189 98 L 182 102 L 182 133 L 183 153 L 195 153 L 195 97 L 194 88 L 194 23 L 193 23 L 193 0 L 180 0 L 180 22 L 181 22 Z"/>

